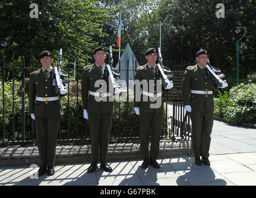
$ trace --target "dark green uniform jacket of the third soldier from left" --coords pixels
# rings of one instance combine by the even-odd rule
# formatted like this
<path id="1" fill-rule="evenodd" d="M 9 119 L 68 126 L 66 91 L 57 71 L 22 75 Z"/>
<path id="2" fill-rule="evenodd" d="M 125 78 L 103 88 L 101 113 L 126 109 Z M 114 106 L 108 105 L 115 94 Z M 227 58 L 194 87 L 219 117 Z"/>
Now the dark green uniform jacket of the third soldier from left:
<path id="1" fill-rule="evenodd" d="M 147 80 L 148 85 L 149 85 L 149 80 L 154 80 L 154 93 L 157 93 L 157 80 L 160 80 L 160 76 L 155 75 L 152 71 L 150 71 L 149 66 L 147 64 L 137 68 L 134 80 L 140 80 L 140 82 L 142 82 L 142 80 Z M 143 86 L 140 85 L 140 88 L 143 88 Z M 149 92 L 149 87 L 145 91 Z M 157 103 L 157 101 L 150 101 L 149 97 L 148 97 L 148 101 L 143 101 L 143 97 L 145 96 L 140 94 L 140 101 L 135 101 L 136 92 L 135 92 L 135 85 L 134 85 L 134 107 L 139 107 L 140 112 L 147 112 L 147 113 L 163 112 L 163 100 L 161 102 L 160 108 L 150 108 L 150 104 Z M 162 95 L 162 99 L 163 99 L 163 95 Z"/>

